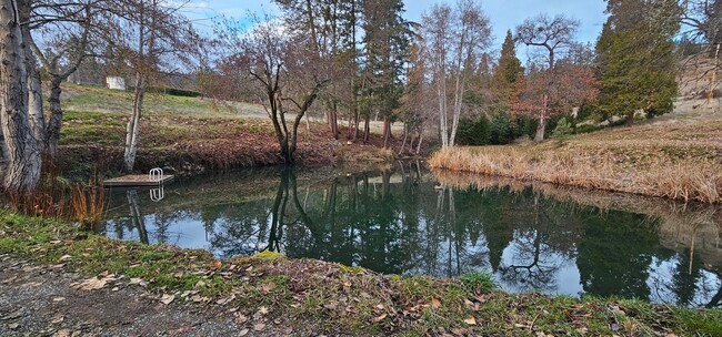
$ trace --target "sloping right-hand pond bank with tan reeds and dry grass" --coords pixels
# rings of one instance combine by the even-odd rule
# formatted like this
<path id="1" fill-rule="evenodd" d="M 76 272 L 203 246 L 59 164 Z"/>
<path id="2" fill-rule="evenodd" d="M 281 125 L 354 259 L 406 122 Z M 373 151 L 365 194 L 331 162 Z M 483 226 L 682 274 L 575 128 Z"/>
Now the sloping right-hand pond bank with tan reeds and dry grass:
<path id="1" fill-rule="evenodd" d="M 678 111 L 633 126 L 541 144 L 438 151 L 429 165 L 524 181 L 722 202 L 722 113 Z"/>

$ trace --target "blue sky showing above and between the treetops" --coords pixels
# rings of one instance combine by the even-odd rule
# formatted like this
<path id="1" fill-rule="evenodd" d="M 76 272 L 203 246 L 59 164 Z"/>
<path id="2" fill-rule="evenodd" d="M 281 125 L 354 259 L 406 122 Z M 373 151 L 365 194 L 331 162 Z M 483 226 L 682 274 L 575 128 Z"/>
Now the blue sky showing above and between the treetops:
<path id="1" fill-rule="evenodd" d="M 429 10 L 433 3 L 455 1 L 421 1 L 405 0 L 408 20 L 421 21 L 421 14 Z M 493 49 L 500 49 L 508 29 L 513 31 L 527 18 L 546 13 L 550 17 L 565 14 L 581 22 L 579 41 L 594 42 L 606 20 L 604 14 L 605 3 L 603 0 L 481 0 L 481 4 L 491 20 L 494 34 Z M 191 0 L 185 9 L 185 14 L 199 20 L 200 24 L 210 27 L 210 20 L 219 14 L 242 19 L 251 12 L 278 12 L 271 0 Z M 525 49 L 519 47 L 520 57 L 523 57 Z"/>

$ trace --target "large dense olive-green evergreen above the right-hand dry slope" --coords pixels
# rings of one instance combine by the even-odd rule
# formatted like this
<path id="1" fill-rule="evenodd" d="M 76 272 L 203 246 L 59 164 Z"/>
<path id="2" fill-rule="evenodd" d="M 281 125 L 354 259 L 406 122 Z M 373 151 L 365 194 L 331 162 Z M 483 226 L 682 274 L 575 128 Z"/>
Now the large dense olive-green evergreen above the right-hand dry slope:
<path id="1" fill-rule="evenodd" d="M 680 10 L 674 0 L 608 0 L 610 14 L 596 42 L 600 108 L 623 114 L 663 114 L 676 95 L 674 42 Z"/>

